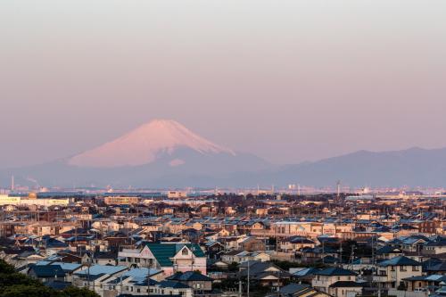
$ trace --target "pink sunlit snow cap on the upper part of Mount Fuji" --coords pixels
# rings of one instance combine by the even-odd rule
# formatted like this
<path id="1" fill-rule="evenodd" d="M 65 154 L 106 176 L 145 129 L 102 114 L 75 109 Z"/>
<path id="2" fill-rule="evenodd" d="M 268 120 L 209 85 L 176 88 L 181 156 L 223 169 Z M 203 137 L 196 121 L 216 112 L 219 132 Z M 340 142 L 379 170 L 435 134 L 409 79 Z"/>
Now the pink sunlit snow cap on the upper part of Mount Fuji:
<path id="1" fill-rule="evenodd" d="M 202 154 L 235 153 L 194 134 L 175 120 L 152 120 L 124 136 L 100 145 L 68 160 L 78 167 L 113 168 L 145 165 L 157 156 L 172 154 L 178 149 L 190 149 Z M 174 162 L 178 165 L 178 161 Z"/>

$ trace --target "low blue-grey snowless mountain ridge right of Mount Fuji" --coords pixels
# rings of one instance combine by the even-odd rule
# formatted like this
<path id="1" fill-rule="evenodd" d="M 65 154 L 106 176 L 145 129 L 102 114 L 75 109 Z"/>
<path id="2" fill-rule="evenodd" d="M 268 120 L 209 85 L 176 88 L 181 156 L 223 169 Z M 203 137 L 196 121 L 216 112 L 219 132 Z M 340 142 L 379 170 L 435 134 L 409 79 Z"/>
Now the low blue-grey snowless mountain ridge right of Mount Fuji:
<path id="1" fill-rule="evenodd" d="M 445 186 L 446 148 L 374 153 L 359 151 L 326 160 L 286 166 L 271 177 L 303 185 Z M 267 177 L 268 178 L 268 177 Z"/>

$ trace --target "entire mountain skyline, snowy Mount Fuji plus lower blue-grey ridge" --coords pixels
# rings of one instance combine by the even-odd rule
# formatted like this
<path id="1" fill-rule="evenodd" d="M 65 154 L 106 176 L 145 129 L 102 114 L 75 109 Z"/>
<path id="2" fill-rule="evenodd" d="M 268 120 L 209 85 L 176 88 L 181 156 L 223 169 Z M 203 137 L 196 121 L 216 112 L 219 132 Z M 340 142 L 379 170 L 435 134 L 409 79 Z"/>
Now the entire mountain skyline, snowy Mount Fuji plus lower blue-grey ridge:
<path id="1" fill-rule="evenodd" d="M 153 120 L 90 151 L 36 166 L 0 171 L 39 186 L 445 186 L 446 148 L 359 151 L 278 166 L 197 136 L 174 120 Z"/>

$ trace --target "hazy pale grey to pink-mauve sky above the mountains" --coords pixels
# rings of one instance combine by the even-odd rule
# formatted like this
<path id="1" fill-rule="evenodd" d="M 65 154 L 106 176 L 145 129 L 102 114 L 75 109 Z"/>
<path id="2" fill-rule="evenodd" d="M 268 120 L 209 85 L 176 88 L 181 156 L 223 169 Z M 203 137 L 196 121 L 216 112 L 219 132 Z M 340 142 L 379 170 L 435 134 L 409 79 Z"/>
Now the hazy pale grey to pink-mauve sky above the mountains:
<path id="1" fill-rule="evenodd" d="M 269 161 L 446 146 L 446 1 L 1 1 L 0 167 L 148 120 Z"/>

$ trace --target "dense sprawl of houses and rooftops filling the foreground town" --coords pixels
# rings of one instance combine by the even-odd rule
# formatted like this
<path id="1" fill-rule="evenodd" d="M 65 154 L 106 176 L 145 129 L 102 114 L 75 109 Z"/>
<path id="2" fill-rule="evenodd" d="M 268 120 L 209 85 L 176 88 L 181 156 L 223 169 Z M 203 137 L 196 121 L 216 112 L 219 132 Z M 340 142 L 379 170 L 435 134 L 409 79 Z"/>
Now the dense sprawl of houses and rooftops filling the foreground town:
<path id="1" fill-rule="evenodd" d="M 54 292 L 446 296 L 442 196 L 56 196 L 0 197 L 0 258 Z"/>

